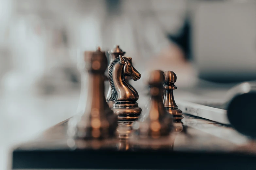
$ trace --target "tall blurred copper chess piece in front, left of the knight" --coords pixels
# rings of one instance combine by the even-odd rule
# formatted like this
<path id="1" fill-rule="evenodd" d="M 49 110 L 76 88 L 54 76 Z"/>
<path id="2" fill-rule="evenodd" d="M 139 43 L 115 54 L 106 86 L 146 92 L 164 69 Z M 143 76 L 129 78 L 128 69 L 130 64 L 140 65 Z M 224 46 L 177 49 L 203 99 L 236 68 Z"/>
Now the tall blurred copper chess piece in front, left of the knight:
<path id="1" fill-rule="evenodd" d="M 76 137 L 83 139 L 109 138 L 115 135 L 117 116 L 109 108 L 104 95 L 104 72 L 107 69 L 105 51 L 84 52 L 85 70 L 88 72 L 86 108 L 77 123 Z"/>

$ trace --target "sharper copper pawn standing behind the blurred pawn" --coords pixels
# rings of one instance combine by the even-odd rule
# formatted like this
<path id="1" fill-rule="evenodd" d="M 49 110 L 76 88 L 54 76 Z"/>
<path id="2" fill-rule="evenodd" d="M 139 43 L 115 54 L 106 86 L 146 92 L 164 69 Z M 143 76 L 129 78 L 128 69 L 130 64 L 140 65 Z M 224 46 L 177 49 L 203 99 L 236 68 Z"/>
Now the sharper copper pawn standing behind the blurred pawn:
<path id="1" fill-rule="evenodd" d="M 177 76 L 172 71 L 165 71 L 163 73 L 163 76 L 163 87 L 165 89 L 163 98 L 164 107 L 166 108 L 167 112 L 169 112 L 173 116 L 173 119 L 176 122 L 181 122 L 181 120 L 183 119 L 183 113 L 180 109 L 178 109 L 178 106 L 176 105 L 173 96 L 173 90 L 177 89 L 177 87 L 174 85 L 177 80 Z"/>

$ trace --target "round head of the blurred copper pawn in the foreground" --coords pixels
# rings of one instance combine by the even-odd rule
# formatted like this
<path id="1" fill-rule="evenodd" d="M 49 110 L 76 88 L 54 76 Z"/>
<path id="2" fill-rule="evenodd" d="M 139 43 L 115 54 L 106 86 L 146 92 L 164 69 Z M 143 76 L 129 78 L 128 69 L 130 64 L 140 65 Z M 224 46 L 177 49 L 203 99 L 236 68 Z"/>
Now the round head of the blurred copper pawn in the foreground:
<path id="1" fill-rule="evenodd" d="M 163 71 L 161 70 L 151 71 L 148 75 L 147 83 L 150 86 L 162 85 L 163 81 L 164 81 Z"/>

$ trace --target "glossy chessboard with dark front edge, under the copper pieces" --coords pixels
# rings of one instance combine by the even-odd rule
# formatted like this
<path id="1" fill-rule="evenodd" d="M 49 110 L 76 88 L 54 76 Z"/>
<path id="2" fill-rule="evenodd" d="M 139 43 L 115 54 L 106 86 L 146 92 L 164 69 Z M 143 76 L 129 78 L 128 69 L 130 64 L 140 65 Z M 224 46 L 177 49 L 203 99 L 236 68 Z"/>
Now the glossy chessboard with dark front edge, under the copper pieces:
<path id="1" fill-rule="evenodd" d="M 131 139 L 73 140 L 65 120 L 13 150 L 13 169 L 256 169 L 254 141 L 233 128 L 184 116 L 162 144 Z"/>

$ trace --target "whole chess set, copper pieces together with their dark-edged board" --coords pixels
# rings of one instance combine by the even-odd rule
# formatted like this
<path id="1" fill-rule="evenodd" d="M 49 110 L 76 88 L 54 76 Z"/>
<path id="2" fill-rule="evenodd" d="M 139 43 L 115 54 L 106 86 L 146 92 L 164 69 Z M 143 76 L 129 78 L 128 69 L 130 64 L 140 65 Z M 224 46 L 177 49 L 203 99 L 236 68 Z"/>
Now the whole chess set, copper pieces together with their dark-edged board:
<path id="1" fill-rule="evenodd" d="M 148 74 L 145 110 L 129 83 L 141 78 L 116 46 L 84 52 L 89 93 L 82 114 L 13 150 L 13 169 L 249 169 L 256 145 L 232 127 L 186 114 L 173 71 Z M 108 67 L 108 76 L 105 71 Z M 105 97 L 104 82 L 110 87 Z M 143 111 L 143 112 L 142 112 Z M 184 114 L 183 114 L 184 112 Z"/>

